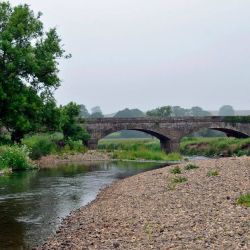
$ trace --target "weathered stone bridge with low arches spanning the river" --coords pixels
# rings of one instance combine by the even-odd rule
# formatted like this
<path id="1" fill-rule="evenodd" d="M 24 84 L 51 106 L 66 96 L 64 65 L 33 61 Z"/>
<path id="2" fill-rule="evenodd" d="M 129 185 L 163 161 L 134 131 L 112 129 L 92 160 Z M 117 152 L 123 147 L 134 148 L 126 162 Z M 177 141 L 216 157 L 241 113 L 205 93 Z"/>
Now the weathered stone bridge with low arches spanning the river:
<path id="1" fill-rule="evenodd" d="M 105 136 L 121 131 L 136 130 L 160 140 L 165 152 L 177 152 L 180 140 L 200 129 L 208 128 L 224 132 L 227 136 L 246 138 L 250 136 L 250 123 L 225 122 L 225 117 L 182 117 L 182 118 L 97 118 L 84 123 L 90 134 L 87 146 L 96 149 L 98 141 Z"/>

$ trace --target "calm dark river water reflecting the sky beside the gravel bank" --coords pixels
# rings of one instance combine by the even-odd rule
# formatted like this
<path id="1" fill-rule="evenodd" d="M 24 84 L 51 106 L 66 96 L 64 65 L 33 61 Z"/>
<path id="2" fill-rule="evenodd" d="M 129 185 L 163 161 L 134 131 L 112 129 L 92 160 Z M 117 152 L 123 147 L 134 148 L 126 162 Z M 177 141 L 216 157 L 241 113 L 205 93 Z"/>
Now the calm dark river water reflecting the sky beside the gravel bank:
<path id="1" fill-rule="evenodd" d="M 0 177 L 0 249 L 30 249 L 55 233 L 62 218 L 94 200 L 115 180 L 159 163 L 98 162 Z"/>

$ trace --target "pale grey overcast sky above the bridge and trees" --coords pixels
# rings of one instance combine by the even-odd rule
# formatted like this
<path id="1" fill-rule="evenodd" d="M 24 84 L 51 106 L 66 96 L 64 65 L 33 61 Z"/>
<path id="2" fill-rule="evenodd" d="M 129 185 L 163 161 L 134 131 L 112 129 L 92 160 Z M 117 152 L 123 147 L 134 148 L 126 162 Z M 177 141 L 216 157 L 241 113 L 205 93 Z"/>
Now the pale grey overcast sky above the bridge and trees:
<path id="1" fill-rule="evenodd" d="M 11 0 L 42 11 L 73 57 L 60 104 L 250 109 L 249 0 Z"/>

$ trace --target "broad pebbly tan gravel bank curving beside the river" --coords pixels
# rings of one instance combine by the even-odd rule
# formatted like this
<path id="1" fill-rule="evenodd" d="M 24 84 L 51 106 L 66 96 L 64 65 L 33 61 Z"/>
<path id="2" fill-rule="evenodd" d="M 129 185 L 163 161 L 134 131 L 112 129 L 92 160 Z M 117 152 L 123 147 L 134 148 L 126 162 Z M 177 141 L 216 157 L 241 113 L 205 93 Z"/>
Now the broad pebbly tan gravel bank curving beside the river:
<path id="1" fill-rule="evenodd" d="M 250 157 L 195 164 L 114 183 L 40 249 L 250 249 L 250 208 L 236 205 L 250 191 Z M 187 181 L 173 185 L 176 177 Z"/>

